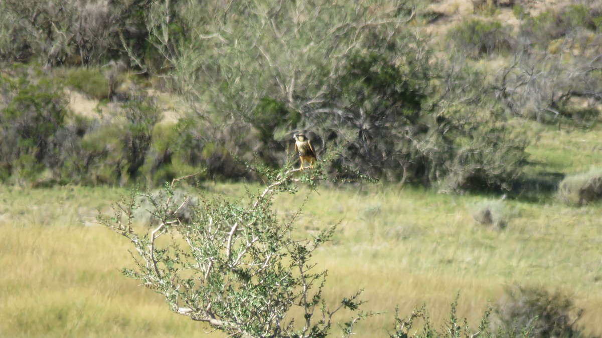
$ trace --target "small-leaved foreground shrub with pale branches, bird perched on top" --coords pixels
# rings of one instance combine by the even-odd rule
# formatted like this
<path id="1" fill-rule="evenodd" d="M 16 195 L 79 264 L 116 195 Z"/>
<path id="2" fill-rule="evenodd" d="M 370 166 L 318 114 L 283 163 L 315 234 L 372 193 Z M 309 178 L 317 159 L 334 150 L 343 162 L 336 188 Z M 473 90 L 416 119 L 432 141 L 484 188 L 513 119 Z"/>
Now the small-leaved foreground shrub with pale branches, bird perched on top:
<path id="1" fill-rule="evenodd" d="M 350 336 L 353 325 L 371 313 L 359 312 L 359 292 L 330 306 L 322 292 L 326 271 L 315 271 L 311 263 L 334 227 L 311 239 L 294 238 L 299 212 L 282 220 L 272 206 L 276 194 L 296 192 L 293 171 L 264 174 L 272 181 L 258 194 L 249 192 L 247 201 L 200 197 L 191 222 L 179 219 L 183 204 L 175 198 L 173 182 L 160 197 L 143 194 L 157 227 L 132 227 L 140 197 L 135 190 L 116 203 L 114 217 L 99 221 L 128 238 L 139 255 L 135 268 L 123 273 L 163 295 L 172 312 L 229 336 L 309 338 L 326 337 L 335 317 L 347 309 L 352 318 L 341 328 L 344 337 Z M 302 182 L 316 186 L 309 177 Z"/>

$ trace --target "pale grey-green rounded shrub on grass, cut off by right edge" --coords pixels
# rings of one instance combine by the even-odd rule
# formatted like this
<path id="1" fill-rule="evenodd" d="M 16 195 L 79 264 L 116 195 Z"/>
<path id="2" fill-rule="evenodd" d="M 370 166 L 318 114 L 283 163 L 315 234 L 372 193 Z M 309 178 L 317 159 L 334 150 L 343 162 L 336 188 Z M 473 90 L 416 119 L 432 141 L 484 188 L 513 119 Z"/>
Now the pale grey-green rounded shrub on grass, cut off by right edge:
<path id="1" fill-rule="evenodd" d="M 560 200 L 569 205 L 592 203 L 602 198 L 602 169 L 566 176 L 558 187 Z"/>

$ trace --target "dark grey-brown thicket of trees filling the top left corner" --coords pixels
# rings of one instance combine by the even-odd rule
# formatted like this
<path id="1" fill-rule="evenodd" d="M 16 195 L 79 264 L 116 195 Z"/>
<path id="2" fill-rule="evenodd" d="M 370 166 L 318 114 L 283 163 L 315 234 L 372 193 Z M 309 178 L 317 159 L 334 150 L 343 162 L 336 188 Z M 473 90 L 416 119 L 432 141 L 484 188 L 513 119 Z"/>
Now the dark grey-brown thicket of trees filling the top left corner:
<path id="1" fill-rule="evenodd" d="M 164 53 L 175 48 L 176 32 L 182 31 L 169 1 L 7 0 L 0 11 L 0 60 L 39 58 L 50 67 L 129 58 L 134 67 L 160 72 L 167 66 Z M 171 39 L 168 28 L 175 31 Z"/>

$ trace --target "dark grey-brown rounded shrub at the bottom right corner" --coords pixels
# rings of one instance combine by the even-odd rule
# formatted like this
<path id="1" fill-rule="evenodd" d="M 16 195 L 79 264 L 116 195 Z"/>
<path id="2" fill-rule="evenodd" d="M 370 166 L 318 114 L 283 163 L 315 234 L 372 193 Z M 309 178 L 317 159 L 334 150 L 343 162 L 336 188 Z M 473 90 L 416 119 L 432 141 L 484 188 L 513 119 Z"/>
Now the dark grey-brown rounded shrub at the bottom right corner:
<path id="1" fill-rule="evenodd" d="M 492 331 L 497 337 L 580 337 L 575 324 L 583 310 L 560 292 L 514 286 L 494 307 Z"/>

